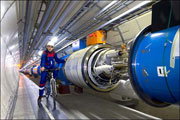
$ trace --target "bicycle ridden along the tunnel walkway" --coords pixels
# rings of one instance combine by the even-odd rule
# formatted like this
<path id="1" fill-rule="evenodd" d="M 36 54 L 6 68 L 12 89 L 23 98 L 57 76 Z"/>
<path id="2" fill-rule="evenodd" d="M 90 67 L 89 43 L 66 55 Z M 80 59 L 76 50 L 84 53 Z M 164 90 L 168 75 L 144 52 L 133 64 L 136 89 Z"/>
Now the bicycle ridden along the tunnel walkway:
<path id="1" fill-rule="evenodd" d="M 49 90 L 49 85 L 45 87 L 45 96 L 46 99 L 49 99 L 49 95 L 52 95 L 53 98 L 53 103 L 54 103 L 54 108 L 56 109 L 56 96 L 57 96 L 57 89 L 56 89 L 56 80 L 53 78 L 53 71 L 54 70 L 59 70 L 59 68 L 56 69 L 45 69 L 44 71 L 47 71 L 47 77 L 46 79 L 49 80 L 50 82 L 50 90 Z M 49 84 L 49 83 L 48 83 Z"/>

